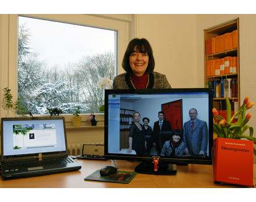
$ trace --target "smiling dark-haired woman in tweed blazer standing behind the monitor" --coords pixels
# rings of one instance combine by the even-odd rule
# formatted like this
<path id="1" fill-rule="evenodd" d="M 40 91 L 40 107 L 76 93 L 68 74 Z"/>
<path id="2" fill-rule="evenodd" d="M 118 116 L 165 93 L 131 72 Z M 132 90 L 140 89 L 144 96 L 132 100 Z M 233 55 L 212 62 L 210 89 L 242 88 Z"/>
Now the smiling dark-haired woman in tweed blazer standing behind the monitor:
<path id="1" fill-rule="evenodd" d="M 155 60 L 147 39 L 130 41 L 122 67 L 126 73 L 114 78 L 113 89 L 171 88 L 166 76 L 154 71 Z"/>

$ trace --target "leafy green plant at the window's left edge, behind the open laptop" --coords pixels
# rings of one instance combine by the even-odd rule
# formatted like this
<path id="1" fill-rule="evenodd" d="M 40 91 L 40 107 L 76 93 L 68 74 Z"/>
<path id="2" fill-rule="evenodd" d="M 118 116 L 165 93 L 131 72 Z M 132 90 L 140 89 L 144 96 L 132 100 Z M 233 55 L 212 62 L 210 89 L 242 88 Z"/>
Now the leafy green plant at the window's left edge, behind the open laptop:
<path id="1" fill-rule="evenodd" d="M 10 89 L 8 87 L 3 89 L 5 91 L 5 95 L 3 97 L 2 107 L 4 109 L 9 109 L 15 112 L 15 114 L 26 116 L 25 107 L 22 106 L 20 102 L 20 98 L 18 98 L 15 102 L 12 100 L 13 96 L 10 93 Z"/>

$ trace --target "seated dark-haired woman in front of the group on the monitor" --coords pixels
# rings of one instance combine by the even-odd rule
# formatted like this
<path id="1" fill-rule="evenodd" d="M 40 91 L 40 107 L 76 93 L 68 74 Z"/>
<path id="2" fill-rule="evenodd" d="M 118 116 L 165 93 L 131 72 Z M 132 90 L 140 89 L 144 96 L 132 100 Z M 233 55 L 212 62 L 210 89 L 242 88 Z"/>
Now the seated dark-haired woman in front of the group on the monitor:
<path id="1" fill-rule="evenodd" d="M 182 131 L 175 129 L 172 138 L 166 141 L 162 147 L 161 156 L 165 157 L 181 157 L 183 156 L 186 145 L 182 141 Z"/>

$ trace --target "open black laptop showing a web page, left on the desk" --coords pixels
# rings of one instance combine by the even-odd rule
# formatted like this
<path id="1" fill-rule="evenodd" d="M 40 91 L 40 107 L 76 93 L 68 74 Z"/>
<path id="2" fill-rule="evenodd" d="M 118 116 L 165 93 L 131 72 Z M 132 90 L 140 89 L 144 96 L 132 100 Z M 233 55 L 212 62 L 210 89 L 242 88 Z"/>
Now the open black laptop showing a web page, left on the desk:
<path id="1" fill-rule="evenodd" d="M 65 118 L 1 118 L 2 178 L 27 178 L 76 171 L 67 155 Z"/>

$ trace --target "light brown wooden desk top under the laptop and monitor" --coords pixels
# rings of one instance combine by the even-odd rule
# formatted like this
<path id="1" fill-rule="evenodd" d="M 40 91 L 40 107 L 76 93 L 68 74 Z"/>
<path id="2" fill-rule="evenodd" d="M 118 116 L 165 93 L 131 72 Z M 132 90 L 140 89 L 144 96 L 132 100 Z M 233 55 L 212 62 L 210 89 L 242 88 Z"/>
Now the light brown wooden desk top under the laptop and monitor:
<path id="1" fill-rule="evenodd" d="M 177 165 L 177 174 L 172 176 L 137 174 L 128 184 L 84 181 L 84 178 L 105 165 L 113 165 L 112 160 L 77 160 L 82 168 L 79 171 L 62 174 L 36 176 L 33 178 L 0 179 L 0 187 L 243 187 L 233 185 L 216 185 L 212 165 Z M 120 171 L 134 171 L 139 162 L 116 160 Z M 256 165 L 254 164 L 254 176 Z M 255 185 L 255 178 L 254 178 Z"/>

